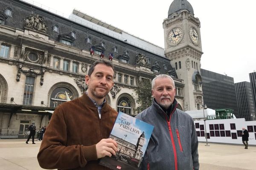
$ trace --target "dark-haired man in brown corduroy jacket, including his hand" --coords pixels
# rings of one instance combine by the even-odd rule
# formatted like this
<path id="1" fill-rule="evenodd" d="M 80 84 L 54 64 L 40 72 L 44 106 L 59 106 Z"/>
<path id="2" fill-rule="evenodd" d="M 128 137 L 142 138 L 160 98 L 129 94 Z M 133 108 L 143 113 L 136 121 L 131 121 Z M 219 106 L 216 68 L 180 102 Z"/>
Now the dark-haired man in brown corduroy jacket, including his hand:
<path id="1" fill-rule="evenodd" d="M 38 153 L 44 169 L 108 170 L 99 165 L 104 156 L 116 155 L 117 144 L 109 139 L 117 112 L 105 96 L 113 87 L 111 62 L 97 60 L 85 77 L 83 96 L 55 109 Z"/>

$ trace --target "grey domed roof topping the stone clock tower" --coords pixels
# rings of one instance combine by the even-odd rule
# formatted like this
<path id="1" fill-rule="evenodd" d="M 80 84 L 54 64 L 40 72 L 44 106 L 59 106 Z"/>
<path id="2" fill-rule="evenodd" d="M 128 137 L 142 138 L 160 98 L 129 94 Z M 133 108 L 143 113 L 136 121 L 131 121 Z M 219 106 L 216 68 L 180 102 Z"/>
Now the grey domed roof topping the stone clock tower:
<path id="1" fill-rule="evenodd" d="M 187 0 L 174 0 L 170 7 L 169 7 L 169 11 L 168 11 L 168 18 L 177 11 L 180 11 L 182 9 L 186 9 L 188 10 L 191 14 L 194 15 L 194 10 L 191 6 L 191 4 L 187 1 Z"/>

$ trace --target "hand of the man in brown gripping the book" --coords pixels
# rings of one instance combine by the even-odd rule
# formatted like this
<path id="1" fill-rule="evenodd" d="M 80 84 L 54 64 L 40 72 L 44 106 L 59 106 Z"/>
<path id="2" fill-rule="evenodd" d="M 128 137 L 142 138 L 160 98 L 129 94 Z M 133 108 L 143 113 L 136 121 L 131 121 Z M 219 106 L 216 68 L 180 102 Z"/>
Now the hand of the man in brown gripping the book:
<path id="1" fill-rule="evenodd" d="M 96 144 L 97 158 L 116 155 L 117 143 L 113 139 L 102 139 Z"/>

